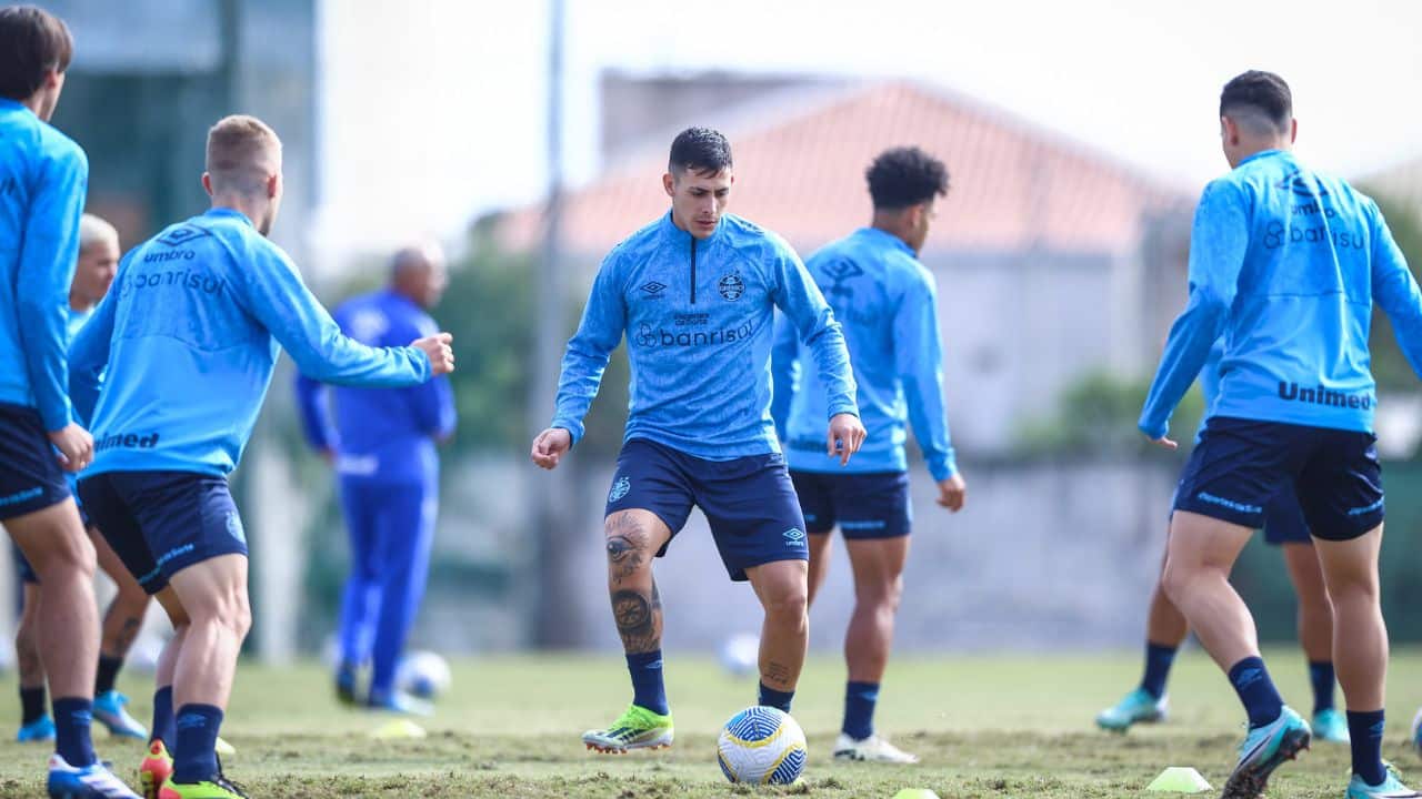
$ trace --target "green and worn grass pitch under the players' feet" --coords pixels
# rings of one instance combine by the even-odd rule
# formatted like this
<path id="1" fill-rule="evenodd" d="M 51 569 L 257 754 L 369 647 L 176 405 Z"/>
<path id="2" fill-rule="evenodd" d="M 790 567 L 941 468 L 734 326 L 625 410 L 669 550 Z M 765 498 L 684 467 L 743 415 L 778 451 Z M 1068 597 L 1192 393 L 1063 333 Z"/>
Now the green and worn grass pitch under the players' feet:
<path id="1" fill-rule="evenodd" d="M 1394 655 L 1384 755 L 1422 776 L 1406 746 L 1422 704 L 1422 650 Z M 1285 697 L 1307 711 L 1301 655 L 1274 650 L 1270 661 Z M 1216 788 L 1223 785 L 1240 712 L 1224 678 L 1197 650 L 1176 665 L 1169 724 L 1126 736 L 1094 728 L 1095 712 L 1135 684 L 1138 668 L 1133 654 L 900 658 L 884 685 L 879 728 L 923 763 L 884 768 L 829 759 L 843 667 L 838 658 L 815 658 L 795 701 L 811 744 L 805 779 L 752 790 L 722 779 L 714 741 L 720 725 L 751 704 L 754 680 L 731 680 L 704 658 L 668 663 L 677 745 L 624 756 L 594 756 L 579 742 L 584 728 L 606 724 L 627 701 L 626 672 L 614 658 L 456 663 L 454 688 L 424 722 L 429 738 L 398 742 L 373 741 L 368 732 L 381 719 L 338 708 L 319 667 L 247 665 L 223 729 L 239 754 L 225 765 L 255 798 L 887 799 L 902 788 L 931 788 L 943 799 L 1123 799 L 1152 796 L 1143 788 L 1167 765 L 1194 766 Z M 129 674 L 122 688 L 146 721 L 148 682 Z M 0 718 L 17 718 L 13 684 L 3 697 Z M 9 738 L 11 726 L 4 729 Z M 132 779 L 141 746 L 97 735 L 101 756 Z M 0 744 L 0 796 L 43 796 L 46 755 L 43 746 Z M 1270 796 L 1335 799 L 1347 771 L 1347 748 L 1320 744 L 1277 772 Z"/>

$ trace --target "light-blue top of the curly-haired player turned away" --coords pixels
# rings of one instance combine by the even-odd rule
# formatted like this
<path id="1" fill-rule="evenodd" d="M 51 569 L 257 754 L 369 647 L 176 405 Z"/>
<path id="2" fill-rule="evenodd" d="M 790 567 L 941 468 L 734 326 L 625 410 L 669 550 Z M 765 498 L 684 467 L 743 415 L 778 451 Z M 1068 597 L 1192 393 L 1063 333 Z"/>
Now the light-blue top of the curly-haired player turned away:
<path id="1" fill-rule="evenodd" d="M 907 469 L 907 432 L 923 449 L 929 472 L 944 481 L 957 472 L 943 395 L 943 345 L 937 286 L 903 239 L 863 227 L 832 242 L 805 262 L 835 318 L 859 385 L 859 412 L 869 438 L 846 472 Z M 778 320 L 772 415 L 792 469 L 840 471 L 825 451 L 825 390 L 803 372 L 795 328 Z M 803 374 L 802 374 L 803 372 Z"/>

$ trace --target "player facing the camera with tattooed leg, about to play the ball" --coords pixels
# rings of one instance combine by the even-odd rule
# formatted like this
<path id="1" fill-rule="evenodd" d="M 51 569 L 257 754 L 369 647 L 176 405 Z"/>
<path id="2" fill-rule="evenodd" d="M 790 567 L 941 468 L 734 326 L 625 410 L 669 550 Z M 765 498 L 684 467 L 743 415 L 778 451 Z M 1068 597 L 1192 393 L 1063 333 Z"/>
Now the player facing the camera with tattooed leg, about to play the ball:
<path id="1" fill-rule="evenodd" d="M 805 522 L 771 421 L 775 309 L 815 355 L 828 394 L 825 446 L 846 463 L 863 442 L 855 378 L 833 313 L 776 235 L 725 213 L 731 145 L 690 128 L 671 142 L 671 210 L 603 260 L 567 343 L 553 424 L 532 458 L 553 469 L 583 436 L 607 357 L 627 337 L 631 404 L 607 495 L 607 587 L 633 702 L 583 742 L 599 752 L 673 741 L 663 687 L 661 597 L 651 562 L 697 505 L 732 580 L 765 608 L 759 704 L 789 711 L 809 624 Z"/>

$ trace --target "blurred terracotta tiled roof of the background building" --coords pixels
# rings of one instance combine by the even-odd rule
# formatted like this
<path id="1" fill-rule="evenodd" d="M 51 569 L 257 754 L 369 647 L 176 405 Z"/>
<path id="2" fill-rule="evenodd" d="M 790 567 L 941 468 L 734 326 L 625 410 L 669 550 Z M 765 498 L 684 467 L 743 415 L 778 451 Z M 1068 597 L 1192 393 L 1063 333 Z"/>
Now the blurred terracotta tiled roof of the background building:
<path id="1" fill-rule="evenodd" d="M 882 149 L 916 144 L 941 158 L 953 188 L 940 200 L 927 250 L 1123 252 L 1143 213 L 1189 208 L 1187 192 L 1008 114 L 907 82 L 836 90 L 805 107 L 758 104 L 727 125 L 735 151 L 731 210 L 776 230 L 802 252 L 865 225 L 863 169 Z M 768 111 L 771 109 L 771 111 Z M 570 252 L 603 252 L 663 213 L 667 142 L 648 142 L 565 206 Z M 501 223 L 513 249 L 538 243 L 542 213 Z"/>

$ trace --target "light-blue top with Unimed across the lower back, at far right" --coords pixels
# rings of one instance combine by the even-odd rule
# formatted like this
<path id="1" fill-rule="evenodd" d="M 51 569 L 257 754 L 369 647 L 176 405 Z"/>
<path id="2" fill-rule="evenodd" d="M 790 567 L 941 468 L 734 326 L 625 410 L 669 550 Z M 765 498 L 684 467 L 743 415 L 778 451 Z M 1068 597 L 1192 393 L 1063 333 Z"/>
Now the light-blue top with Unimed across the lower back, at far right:
<path id="1" fill-rule="evenodd" d="M 1206 186 L 1190 233 L 1190 299 L 1140 412 L 1170 414 L 1224 336 L 1214 417 L 1372 431 L 1372 304 L 1422 375 L 1422 294 L 1372 199 L 1266 151 Z"/>

